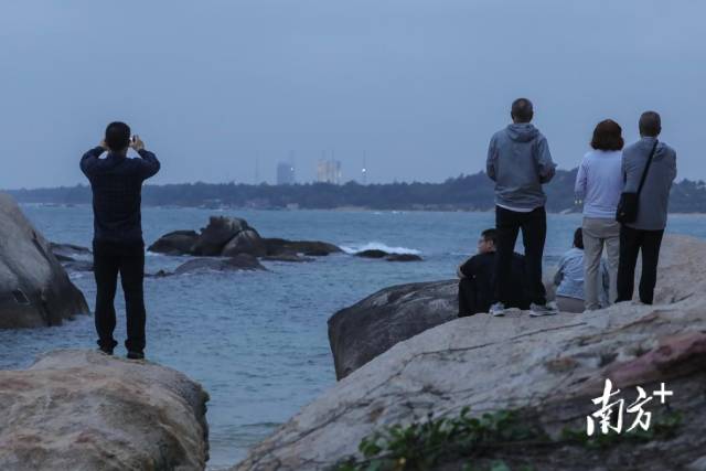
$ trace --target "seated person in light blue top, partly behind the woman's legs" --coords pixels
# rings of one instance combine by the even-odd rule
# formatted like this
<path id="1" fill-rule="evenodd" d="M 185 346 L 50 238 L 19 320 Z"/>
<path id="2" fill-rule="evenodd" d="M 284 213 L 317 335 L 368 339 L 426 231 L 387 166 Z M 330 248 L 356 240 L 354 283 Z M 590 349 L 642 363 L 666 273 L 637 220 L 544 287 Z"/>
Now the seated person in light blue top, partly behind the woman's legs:
<path id="1" fill-rule="evenodd" d="M 601 307 L 608 306 L 609 275 L 605 260 L 600 260 L 602 289 L 600 290 Z M 574 233 L 574 247 L 561 256 L 559 269 L 554 276 L 556 303 L 563 312 L 584 312 L 584 233 L 577 228 Z"/>

